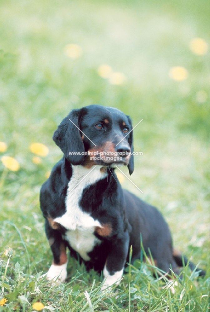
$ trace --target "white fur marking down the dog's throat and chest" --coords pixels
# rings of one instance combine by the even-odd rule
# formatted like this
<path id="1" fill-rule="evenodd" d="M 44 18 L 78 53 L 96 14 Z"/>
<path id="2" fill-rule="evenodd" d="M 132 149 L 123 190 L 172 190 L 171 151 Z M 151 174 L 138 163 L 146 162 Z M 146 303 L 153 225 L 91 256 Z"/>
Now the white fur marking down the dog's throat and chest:
<path id="1" fill-rule="evenodd" d="M 87 253 L 101 242 L 94 235 L 95 227 L 102 226 L 89 213 L 80 209 L 79 202 L 84 188 L 105 178 L 107 173 L 101 173 L 99 166 L 93 169 L 87 169 L 81 165 L 72 166 L 72 168 L 73 174 L 66 194 L 66 212 L 54 221 L 68 230 L 63 238 L 69 242 L 70 246 L 79 252 L 84 260 L 90 260 Z"/>

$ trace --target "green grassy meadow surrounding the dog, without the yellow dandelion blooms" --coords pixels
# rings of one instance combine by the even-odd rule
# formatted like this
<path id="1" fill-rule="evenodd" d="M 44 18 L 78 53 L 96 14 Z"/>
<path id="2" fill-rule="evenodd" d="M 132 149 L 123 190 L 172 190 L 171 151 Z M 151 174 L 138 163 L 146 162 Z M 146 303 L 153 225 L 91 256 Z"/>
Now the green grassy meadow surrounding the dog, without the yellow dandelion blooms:
<path id="1" fill-rule="evenodd" d="M 2 0 L 0 8 L 0 141 L 7 144 L 0 156 L 20 164 L 14 172 L 0 163 L 0 300 L 7 299 L 0 311 L 34 311 L 39 301 L 45 311 L 208 311 L 208 1 Z M 206 54 L 190 50 L 197 37 L 208 43 Z M 70 43 L 81 57 L 65 55 Z M 101 78 L 101 64 L 122 72 L 125 84 Z M 171 79 L 173 66 L 183 66 L 187 79 Z M 42 277 L 52 257 L 39 190 L 61 158 L 51 137 L 71 109 L 93 103 L 119 108 L 134 125 L 143 118 L 134 131 L 143 155 L 130 178 L 144 194 L 123 176 L 121 183 L 159 207 L 175 247 L 207 270 L 204 279 L 186 267 L 182 282 L 167 285 L 153 278 L 151 263 L 137 261 L 120 286 L 101 293 L 102 277 L 73 259 L 65 284 Z M 49 148 L 39 164 L 29 150 L 35 142 Z"/>

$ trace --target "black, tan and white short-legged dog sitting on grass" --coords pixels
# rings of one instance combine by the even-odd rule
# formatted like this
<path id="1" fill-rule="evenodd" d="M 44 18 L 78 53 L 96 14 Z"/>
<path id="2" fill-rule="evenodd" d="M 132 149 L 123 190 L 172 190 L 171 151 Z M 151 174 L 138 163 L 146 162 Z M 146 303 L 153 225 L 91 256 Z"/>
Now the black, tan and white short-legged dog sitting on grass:
<path id="1" fill-rule="evenodd" d="M 87 270 L 103 271 L 102 290 L 120 283 L 130 246 L 131 262 L 141 258 L 141 242 L 146 255 L 166 273 L 179 274 L 178 267 L 187 264 L 186 257 L 173 252 L 161 213 L 122 189 L 115 174 L 120 165 L 130 175 L 134 171 L 132 129 L 130 117 L 120 110 L 90 105 L 72 110 L 54 132 L 64 155 L 40 191 L 53 255 L 49 280 L 65 281 L 67 247 Z M 195 269 L 191 262 L 189 267 Z"/>

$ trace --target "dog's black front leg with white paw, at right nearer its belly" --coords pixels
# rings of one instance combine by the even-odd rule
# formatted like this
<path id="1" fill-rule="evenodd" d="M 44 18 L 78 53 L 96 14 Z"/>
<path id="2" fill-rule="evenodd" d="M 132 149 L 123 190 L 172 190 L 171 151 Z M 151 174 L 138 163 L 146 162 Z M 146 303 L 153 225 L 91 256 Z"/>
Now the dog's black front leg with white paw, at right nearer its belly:
<path id="1" fill-rule="evenodd" d="M 118 285 L 120 283 L 128 254 L 129 233 L 124 232 L 123 236 L 113 239 L 110 244 L 110 253 L 103 270 L 104 284 L 101 290 L 105 290 L 113 284 Z"/>

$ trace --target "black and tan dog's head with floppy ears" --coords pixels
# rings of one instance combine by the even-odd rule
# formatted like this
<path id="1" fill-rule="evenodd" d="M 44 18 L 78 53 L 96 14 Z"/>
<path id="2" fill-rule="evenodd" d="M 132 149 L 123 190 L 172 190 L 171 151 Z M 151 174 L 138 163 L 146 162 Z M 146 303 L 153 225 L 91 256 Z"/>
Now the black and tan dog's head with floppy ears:
<path id="1" fill-rule="evenodd" d="M 53 140 L 73 165 L 127 165 L 134 170 L 133 131 L 129 116 L 113 107 L 90 105 L 72 110 Z"/>

